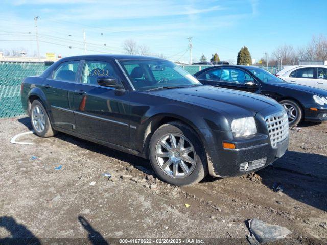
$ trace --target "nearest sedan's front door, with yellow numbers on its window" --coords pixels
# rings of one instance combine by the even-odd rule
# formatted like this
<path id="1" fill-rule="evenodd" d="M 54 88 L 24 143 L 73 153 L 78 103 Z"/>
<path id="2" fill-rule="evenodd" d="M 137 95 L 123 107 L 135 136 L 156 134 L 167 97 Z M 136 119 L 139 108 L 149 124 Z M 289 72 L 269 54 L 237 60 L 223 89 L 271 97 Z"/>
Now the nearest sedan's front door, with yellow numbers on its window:
<path id="1" fill-rule="evenodd" d="M 117 74 L 109 61 L 85 61 L 74 93 L 76 127 L 83 135 L 129 148 L 129 91 L 97 83 L 99 76 L 111 76 L 122 84 Z"/>

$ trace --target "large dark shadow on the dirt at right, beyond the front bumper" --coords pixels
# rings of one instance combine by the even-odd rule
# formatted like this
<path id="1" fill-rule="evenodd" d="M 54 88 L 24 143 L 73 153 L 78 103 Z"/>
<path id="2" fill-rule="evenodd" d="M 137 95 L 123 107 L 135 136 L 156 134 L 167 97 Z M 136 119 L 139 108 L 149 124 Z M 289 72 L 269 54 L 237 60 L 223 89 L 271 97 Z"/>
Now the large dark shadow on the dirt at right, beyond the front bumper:
<path id="1" fill-rule="evenodd" d="M 267 187 L 272 188 L 274 182 L 281 183 L 284 194 L 327 211 L 327 157 L 288 151 L 257 174 Z"/>

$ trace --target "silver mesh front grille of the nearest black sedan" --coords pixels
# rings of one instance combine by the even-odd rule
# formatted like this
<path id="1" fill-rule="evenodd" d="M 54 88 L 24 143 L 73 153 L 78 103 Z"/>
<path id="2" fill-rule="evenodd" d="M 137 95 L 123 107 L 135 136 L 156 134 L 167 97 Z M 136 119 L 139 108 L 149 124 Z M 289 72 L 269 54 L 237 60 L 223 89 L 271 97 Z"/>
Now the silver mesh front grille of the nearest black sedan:
<path id="1" fill-rule="evenodd" d="M 266 117 L 270 144 L 276 148 L 277 144 L 288 136 L 288 117 L 286 112 Z"/>

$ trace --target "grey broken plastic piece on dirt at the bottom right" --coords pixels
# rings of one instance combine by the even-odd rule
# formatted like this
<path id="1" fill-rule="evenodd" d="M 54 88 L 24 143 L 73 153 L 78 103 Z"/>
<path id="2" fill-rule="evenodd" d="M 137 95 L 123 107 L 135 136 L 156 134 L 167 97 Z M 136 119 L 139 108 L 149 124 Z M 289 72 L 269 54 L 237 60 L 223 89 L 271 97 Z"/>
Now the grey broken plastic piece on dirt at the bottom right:
<path id="1" fill-rule="evenodd" d="M 251 235 L 246 237 L 251 245 L 258 245 L 283 239 L 292 233 L 286 227 L 270 225 L 256 218 L 250 219 L 248 225 Z"/>

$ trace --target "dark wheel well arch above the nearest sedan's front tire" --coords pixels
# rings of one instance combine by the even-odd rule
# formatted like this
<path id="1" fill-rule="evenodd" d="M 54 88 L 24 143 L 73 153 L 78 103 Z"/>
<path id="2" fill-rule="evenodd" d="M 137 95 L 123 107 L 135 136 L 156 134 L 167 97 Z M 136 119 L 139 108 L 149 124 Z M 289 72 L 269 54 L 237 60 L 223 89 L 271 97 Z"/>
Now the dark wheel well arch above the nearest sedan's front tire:
<path id="1" fill-rule="evenodd" d="M 152 121 L 149 122 L 149 125 L 147 126 L 145 133 L 144 133 L 144 138 L 143 138 L 143 154 L 146 158 L 149 158 L 149 142 L 150 139 L 153 135 L 153 133 L 162 125 L 167 124 L 168 122 L 171 121 L 179 121 L 182 122 L 183 124 L 189 126 L 191 129 L 194 130 L 192 125 L 188 124 L 188 122 L 183 121 L 179 118 L 172 117 L 172 116 L 159 116 L 157 118 L 154 118 Z M 195 131 L 195 130 L 194 130 Z M 199 140 L 201 141 L 201 138 L 199 137 L 198 133 L 195 131 L 197 134 Z"/>

